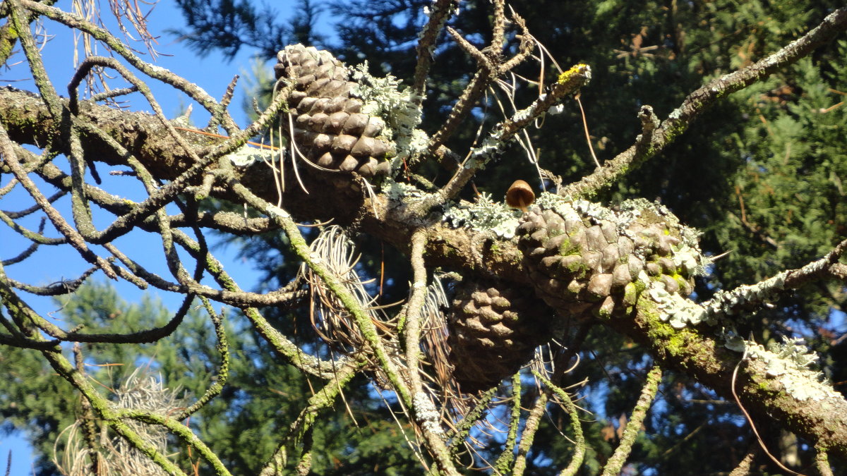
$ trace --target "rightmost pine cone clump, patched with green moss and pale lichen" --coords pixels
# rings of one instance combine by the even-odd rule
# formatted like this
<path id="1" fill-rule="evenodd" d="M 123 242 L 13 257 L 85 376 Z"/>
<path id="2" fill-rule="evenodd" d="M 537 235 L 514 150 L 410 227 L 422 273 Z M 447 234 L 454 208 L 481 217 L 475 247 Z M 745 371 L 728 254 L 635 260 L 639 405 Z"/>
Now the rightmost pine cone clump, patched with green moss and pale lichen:
<path id="1" fill-rule="evenodd" d="M 702 258 L 699 250 L 680 247 L 685 231 L 676 217 L 647 202 L 631 202 L 619 212 L 588 202 L 562 202 L 555 210 L 534 206 L 522 220 L 523 263 L 536 291 L 562 315 L 628 313 L 648 285 L 645 276 L 687 296 L 701 270 L 682 259 L 682 253 L 697 263 Z"/>

